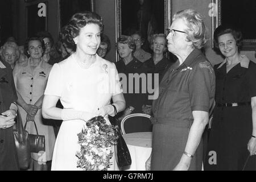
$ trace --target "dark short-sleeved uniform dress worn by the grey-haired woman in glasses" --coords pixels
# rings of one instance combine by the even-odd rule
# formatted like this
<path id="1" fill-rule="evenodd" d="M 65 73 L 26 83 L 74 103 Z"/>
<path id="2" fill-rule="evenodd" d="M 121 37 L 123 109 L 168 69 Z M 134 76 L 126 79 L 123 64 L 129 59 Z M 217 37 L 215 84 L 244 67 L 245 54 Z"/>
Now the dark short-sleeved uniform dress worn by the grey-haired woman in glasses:
<path id="1" fill-rule="evenodd" d="M 209 112 L 214 103 L 215 75 L 199 49 L 178 67 L 171 65 L 153 101 L 151 170 L 172 170 L 179 163 L 193 123 L 192 111 Z M 167 160 L 168 159 L 168 160 Z M 203 142 L 191 161 L 190 170 L 201 170 Z"/>

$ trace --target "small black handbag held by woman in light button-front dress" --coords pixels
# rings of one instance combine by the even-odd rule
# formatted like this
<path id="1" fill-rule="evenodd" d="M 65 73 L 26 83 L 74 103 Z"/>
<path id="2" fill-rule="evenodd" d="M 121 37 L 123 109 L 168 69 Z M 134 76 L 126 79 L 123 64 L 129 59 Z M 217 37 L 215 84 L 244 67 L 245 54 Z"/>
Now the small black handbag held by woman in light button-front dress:
<path id="1" fill-rule="evenodd" d="M 27 126 L 27 122 L 25 124 L 25 130 Z M 36 134 L 28 134 L 30 138 L 30 152 L 38 153 L 40 151 L 46 151 L 46 137 L 44 135 L 38 134 L 38 127 L 36 127 L 35 121 L 32 121 L 35 125 Z"/>

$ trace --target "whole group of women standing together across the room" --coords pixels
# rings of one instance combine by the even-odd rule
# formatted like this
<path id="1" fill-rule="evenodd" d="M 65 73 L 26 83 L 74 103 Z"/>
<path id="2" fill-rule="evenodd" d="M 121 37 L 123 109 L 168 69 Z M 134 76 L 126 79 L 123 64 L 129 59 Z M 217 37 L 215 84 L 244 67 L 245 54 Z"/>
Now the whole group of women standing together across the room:
<path id="1" fill-rule="evenodd" d="M 111 46 L 102 26 L 100 15 L 77 13 L 56 44 L 48 32 L 38 32 L 24 46 L 10 38 L 1 47 L 0 170 L 19 169 L 13 137 L 17 109 L 28 133 L 36 133 L 36 123 L 46 137 L 46 150 L 31 153 L 28 170 L 79 170 L 77 134 L 97 115 L 110 125 L 113 105 L 119 119 L 127 113 L 151 115 L 151 124 L 130 126 L 152 131 L 147 170 L 256 169 L 256 64 L 241 55 L 237 28 L 222 25 L 214 32 L 214 48 L 224 61 L 212 67 L 201 52 L 208 28 L 195 10 L 175 13 L 167 35 L 152 35 L 151 53 L 144 51 L 140 32 L 121 35 L 115 64 L 104 59 Z M 167 50 L 177 60 L 168 59 Z M 126 88 L 118 73 L 126 75 Z M 157 75 L 152 83 L 158 98 L 148 99 L 142 80 L 135 92 L 128 84 L 131 73 Z M 101 74 L 108 79 L 96 79 Z M 115 89 L 102 94 L 102 84 Z M 110 160 L 112 170 L 114 156 Z"/>

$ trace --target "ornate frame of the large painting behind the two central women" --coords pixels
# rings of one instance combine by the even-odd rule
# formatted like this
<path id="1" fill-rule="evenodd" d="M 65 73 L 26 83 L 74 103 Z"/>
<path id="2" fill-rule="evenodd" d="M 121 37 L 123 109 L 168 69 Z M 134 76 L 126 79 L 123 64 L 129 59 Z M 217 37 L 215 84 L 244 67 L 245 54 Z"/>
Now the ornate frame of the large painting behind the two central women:
<path id="1" fill-rule="evenodd" d="M 148 1 L 148 0 L 146 0 Z M 138 1 L 139 2 L 139 1 Z M 167 28 L 171 26 L 172 22 L 172 0 L 164 0 L 164 21 L 163 21 L 163 28 L 164 34 L 167 34 Z M 122 35 L 123 27 L 122 27 L 122 9 L 127 7 L 122 7 L 122 0 L 115 0 L 115 42 L 117 42 L 117 39 L 120 35 Z M 123 10 L 124 11 L 124 10 Z M 125 10 L 127 11 L 127 10 Z M 129 10 L 128 10 L 129 11 Z M 123 20 L 125 21 L 125 20 Z M 115 58 L 118 61 L 119 56 L 118 53 L 115 52 Z"/>

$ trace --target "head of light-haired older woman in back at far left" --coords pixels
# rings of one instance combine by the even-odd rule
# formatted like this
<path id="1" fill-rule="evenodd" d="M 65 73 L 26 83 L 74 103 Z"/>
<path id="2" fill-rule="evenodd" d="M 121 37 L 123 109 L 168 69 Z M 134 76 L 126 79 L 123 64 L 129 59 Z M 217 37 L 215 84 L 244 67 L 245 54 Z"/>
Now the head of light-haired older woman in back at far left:
<path id="1" fill-rule="evenodd" d="M 14 69 L 16 61 L 19 59 L 19 48 L 15 42 L 6 42 L 0 50 L 0 56 L 3 61 L 11 65 Z"/>

